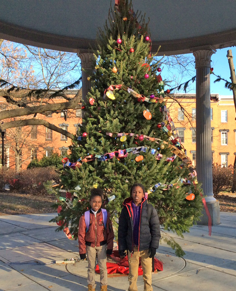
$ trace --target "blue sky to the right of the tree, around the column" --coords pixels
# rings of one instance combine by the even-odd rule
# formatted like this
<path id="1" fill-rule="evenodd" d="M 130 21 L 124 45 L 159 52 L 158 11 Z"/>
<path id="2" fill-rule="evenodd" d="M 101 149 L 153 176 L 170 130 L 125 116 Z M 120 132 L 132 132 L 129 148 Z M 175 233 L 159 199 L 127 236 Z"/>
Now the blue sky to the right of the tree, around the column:
<path id="1" fill-rule="evenodd" d="M 228 65 L 228 59 L 226 57 L 227 51 L 231 49 L 232 50 L 232 55 L 234 56 L 233 61 L 234 61 L 234 66 L 236 68 L 236 47 L 227 47 L 223 49 L 218 49 L 215 54 L 212 55 L 211 57 L 211 67 L 213 67 L 213 73 L 216 75 L 221 76 L 222 78 L 230 81 L 230 71 L 229 71 L 229 65 Z M 188 55 L 185 55 L 188 56 Z M 189 54 L 189 57 L 193 59 L 194 57 L 192 54 Z M 191 79 L 193 76 L 196 75 L 196 71 L 193 67 L 193 62 L 192 62 L 192 67 L 190 66 L 189 71 L 185 71 L 185 75 L 182 76 L 179 71 L 178 71 L 178 66 L 173 66 L 170 68 L 167 68 L 167 66 L 162 67 L 161 71 L 161 76 L 163 79 L 167 80 L 174 80 L 170 86 L 165 86 L 165 90 L 169 88 L 176 87 L 178 84 L 184 83 Z M 226 89 L 225 82 L 220 81 L 217 83 L 214 83 L 216 80 L 216 76 L 210 75 L 210 92 L 211 93 L 218 93 L 219 95 L 233 95 L 232 91 L 229 89 Z M 175 91 L 175 93 L 184 93 L 183 90 L 180 91 Z M 195 82 L 194 83 L 189 83 L 189 88 L 187 90 L 187 93 L 195 93 Z"/>

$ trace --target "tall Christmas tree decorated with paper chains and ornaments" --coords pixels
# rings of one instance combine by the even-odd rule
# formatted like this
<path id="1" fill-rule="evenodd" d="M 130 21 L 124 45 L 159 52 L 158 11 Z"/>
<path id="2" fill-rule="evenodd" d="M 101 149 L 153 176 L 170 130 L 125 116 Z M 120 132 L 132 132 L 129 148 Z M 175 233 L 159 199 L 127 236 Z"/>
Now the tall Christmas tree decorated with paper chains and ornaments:
<path id="1" fill-rule="evenodd" d="M 110 9 L 105 29 L 99 29 L 85 117 L 71 155 L 63 159 L 67 198 L 58 197 L 54 221 L 69 238 L 77 238 L 93 187 L 104 189 L 103 208 L 115 229 L 136 182 L 145 185 L 163 230 L 182 236 L 201 216 L 201 189 L 165 106 L 160 63 L 150 51 L 145 19 L 129 0 L 120 1 Z M 164 231 L 162 240 L 184 254 Z"/>

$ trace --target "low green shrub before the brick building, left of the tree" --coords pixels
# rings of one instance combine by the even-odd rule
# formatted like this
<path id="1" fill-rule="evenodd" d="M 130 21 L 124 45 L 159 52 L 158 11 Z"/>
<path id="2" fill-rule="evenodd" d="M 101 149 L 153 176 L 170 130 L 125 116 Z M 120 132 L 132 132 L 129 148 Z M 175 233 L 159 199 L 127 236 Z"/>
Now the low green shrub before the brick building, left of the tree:
<path id="1" fill-rule="evenodd" d="M 53 166 L 57 170 L 62 170 L 63 169 L 63 164 L 62 164 L 62 156 L 60 156 L 57 153 L 54 153 L 51 155 L 51 157 L 46 157 L 44 156 L 41 158 L 41 160 L 35 159 L 32 160 L 27 169 L 32 169 L 32 168 L 37 168 L 37 167 L 50 167 Z"/>

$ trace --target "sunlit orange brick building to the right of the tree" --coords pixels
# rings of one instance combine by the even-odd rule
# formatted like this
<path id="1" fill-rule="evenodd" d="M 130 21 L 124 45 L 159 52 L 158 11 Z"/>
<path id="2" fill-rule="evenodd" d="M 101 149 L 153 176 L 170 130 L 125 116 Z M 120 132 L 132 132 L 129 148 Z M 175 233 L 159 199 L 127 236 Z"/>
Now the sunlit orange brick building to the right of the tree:
<path id="1" fill-rule="evenodd" d="M 187 156 L 192 159 L 192 164 L 196 166 L 196 95 L 175 94 L 173 97 L 181 104 L 183 110 L 171 98 L 167 99 L 167 108 L 187 151 Z M 213 163 L 225 166 L 233 165 L 236 152 L 233 96 L 211 94 L 210 118 Z"/>

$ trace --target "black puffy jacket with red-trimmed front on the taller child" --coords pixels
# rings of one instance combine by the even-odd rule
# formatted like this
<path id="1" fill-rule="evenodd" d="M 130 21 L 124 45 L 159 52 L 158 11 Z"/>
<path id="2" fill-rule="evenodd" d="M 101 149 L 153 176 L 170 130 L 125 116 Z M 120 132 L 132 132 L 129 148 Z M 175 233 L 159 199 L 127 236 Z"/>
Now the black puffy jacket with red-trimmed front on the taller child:
<path id="1" fill-rule="evenodd" d="M 118 226 L 118 247 L 119 250 L 133 252 L 133 210 L 132 198 L 123 202 L 123 209 Z M 148 221 L 148 204 L 145 198 L 142 199 L 140 222 L 139 222 L 139 251 L 148 250 L 150 247 L 158 249 L 160 234 L 160 223 L 155 208 L 149 204 L 150 221 Z"/>

